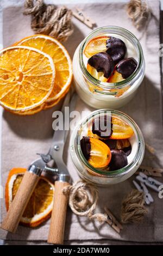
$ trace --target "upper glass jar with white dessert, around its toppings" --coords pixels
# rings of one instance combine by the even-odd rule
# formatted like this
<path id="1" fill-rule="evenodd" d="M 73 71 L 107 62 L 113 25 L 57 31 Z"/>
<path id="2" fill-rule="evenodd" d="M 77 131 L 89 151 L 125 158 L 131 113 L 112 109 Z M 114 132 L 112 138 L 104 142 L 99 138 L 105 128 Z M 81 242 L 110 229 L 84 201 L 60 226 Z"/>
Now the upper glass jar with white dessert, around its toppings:
<path id="1" fill-rule="evenodd" d="M 86 69 L 85 47 L 93 39 L 114 36 L 126 44 L 126 57 L 135 58 L 137 68 L 128 78 L 117 83 L 101 82 Z M 126 58 L 125 57 L 125 58 Z M 93 108 L 120 108 L 135 95 L 145 75 L 145 60 L 139 40 L 127 29 L 106 26 L 95 29 L 80 43 L 73 57 L 74 86 L 80 98 Z"/>

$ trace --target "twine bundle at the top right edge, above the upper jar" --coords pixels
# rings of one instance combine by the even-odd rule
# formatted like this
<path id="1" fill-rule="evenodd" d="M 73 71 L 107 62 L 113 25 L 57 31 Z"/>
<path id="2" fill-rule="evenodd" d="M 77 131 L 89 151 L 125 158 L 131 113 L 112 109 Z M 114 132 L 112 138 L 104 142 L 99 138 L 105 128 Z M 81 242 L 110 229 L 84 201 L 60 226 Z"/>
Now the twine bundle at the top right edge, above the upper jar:
<path id="1" fill-rule="evenodd" d="M 151 18 L 151 9 L 146 0 L 130 0 L 127 4 L 127 13 L 138 29 L 145 27 Z"/>

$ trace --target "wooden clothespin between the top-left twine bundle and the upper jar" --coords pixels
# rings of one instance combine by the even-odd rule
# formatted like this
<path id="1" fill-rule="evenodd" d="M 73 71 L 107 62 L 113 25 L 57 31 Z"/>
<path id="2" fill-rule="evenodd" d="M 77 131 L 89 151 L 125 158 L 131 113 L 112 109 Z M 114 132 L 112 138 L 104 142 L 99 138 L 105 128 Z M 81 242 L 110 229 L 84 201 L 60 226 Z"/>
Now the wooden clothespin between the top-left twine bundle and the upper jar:
<path id="1" fill-rule="evenodd" d="M 96 25 L 96 22 L 93 21 L 90 17 L 87 17 L 79 8 L 76 8 L 76 11 L 72 11 L 72 14 L 89 28 L 93 28 Z"/>

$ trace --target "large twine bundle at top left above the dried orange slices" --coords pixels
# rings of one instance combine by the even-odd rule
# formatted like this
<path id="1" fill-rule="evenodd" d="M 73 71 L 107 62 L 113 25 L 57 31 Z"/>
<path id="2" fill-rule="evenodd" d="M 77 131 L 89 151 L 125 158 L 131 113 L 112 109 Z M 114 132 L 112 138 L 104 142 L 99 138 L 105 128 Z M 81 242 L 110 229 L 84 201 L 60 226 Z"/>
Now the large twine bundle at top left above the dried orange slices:
<path id="1" fill-rule="evenodd" d="M 36 34 L 51 35 L 66 41 L 73 33 L 72 11 L 65 6 L 56 8 L 43 0 L 26 0 L 23 14 L 32 15 L 31 27 Z"/>

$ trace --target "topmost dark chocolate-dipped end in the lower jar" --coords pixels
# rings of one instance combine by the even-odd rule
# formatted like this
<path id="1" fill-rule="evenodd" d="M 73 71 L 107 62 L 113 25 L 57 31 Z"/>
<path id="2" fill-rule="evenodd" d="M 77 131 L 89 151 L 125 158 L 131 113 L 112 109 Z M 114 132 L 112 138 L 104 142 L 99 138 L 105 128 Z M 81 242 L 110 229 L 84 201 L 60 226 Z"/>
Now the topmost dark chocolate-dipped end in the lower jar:
<path id="1" fill-rule="evenodd" d="M 109 120 L 111 121 L 111 119 Z M 112 135 L 112 124 L 110 121 L 108 121 L 106 115 L 95 118 L 92 122 L 92 132 L 101 138 L 109 138 Z"/>

